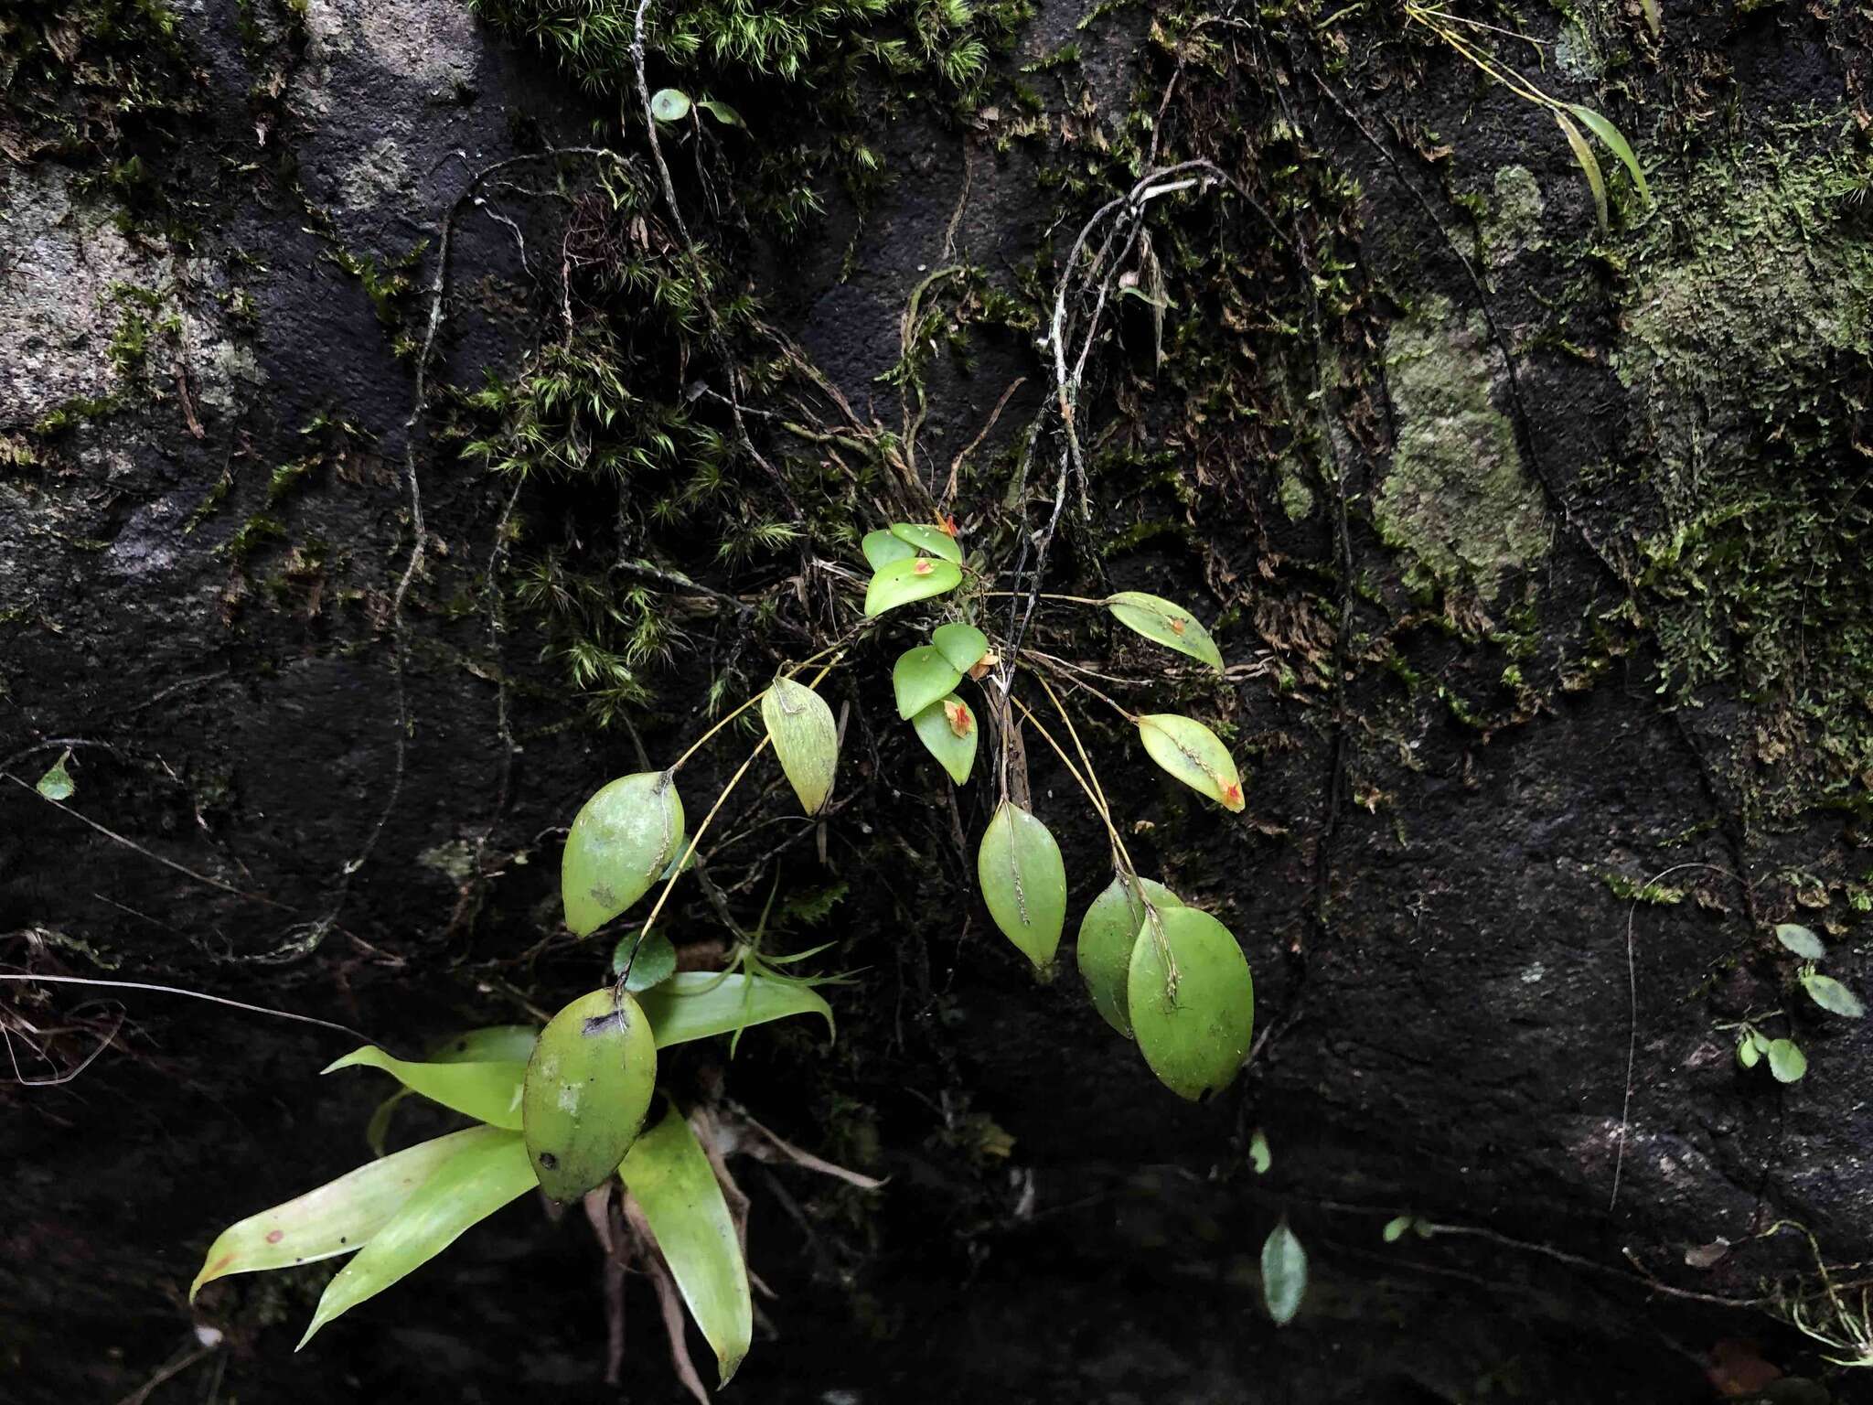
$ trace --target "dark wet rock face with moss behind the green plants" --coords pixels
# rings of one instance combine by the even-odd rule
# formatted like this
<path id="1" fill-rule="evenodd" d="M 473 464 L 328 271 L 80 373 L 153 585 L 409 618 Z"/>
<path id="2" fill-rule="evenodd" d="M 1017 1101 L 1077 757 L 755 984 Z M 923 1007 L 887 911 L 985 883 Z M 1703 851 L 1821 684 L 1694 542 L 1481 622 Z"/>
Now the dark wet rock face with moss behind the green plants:
<path id="1" fill-rule="evenodd" d="M 648 172 L 642 124 L 620 133 L 616 96 L 455 0 L 187 0 L 172 52 L 133 56 L 97 37 L 114 15 L 135 47 L 129 9 L 66 9 L 28 11 L 0 69 L 0 963 L 290 1008 L 405 1053 L 553 1010 L 607 957 L 556 929 L 556 826 L 641 768 L 635 734 L 656 759 L 695 738 L 725 669 L 745 693 L 807 652 L 833 590 L 813 562 L 854 558 L 828 521 L 880 525 L 890 466 L 751 418 L 811 525 L 730 562 L 701 523 L 612 540 L 618 502 L 650 491 L 631 481 L 541 474 L 509 496 L 463 451 L 498 420 L 466 395 L 626 296 L 569 296 L 586 245 L 564 197 L 590 199 L 603 157 L 538 154 L 614 146 Z M 715 296 L 749 287 L 860 422 L 899 427 L 880 377 L 912 290 L 980 270 L 935 324 L 966 324 L 972 360 L 931 358 L 918 468 L 940 480 L 1025 377 L 957 502 L 1010 562 L 1011 513 L 1038 530 L 1053 504 L 1056 423 L 1010 489 L 1053 395 L 1038 339 L 1073 234 L 1152 165 L 1154 131 L 1158 163 L 1242 184 L 1163 197 L 1152 238 L 1114 245 L 1141 296 L 1114 287 L 1090 358 L 1088 511 L 1071 483 L 1049 588 L 1217 620 L 1227 684 L 1156 695 L 1229 731 L 1247 813 L 1199 809 L 1122 727 L 1094 746 L 1152 824 L 1150 867 L 1242 939 L 1268 1040 L 1236 1088 L 1184 1105 L 1069 961 L 1036 984 L 957 845 L 987 787 L 953 826 L 892 716 L 893 646 L 862 650 L 832 686 L 850 706 L 832 871 L 811 839 L 753 862 L 798 822 L 717 860 L 744 920 L 775 867 L 790 894 L 848 884 L 798 931 L 862 969 L 832 993 L 839 1040 L 775 1027 L 732 1064 L 671 1066 L 890 1186 L 747 1167 L 751 1261 L 779 1298 L 730 1399 L 1695 1401 L 1721 1341 L 1789 1375 L 1817 1354 L 1768 1311 L 1659 1285 L 1757 1298 L 1813 1268 L 1800 1235 L 1751 1242 L 1777 1220 L 1830 1263 L 1873 1257 L 1867 1034 L 1809 1004 L 1770 935 L 1807 924 L 1866 987 L 1864 19 L 1665 4 L 1654 36 L 1639 6 L 1478 11 L 1549 43 L 1540 71 L 1495 39 L 1639 148 L 1656 204 L 1601 148 L 1600 234 L 1549 112 L 1401 11 L 1332 9 L 1120 6 L 1075 30 L 1047 0 L 991 60 L 1026 97 L 862 107 L 843 131 L 882 180 L 856 200 L 826 165 L 792 238 L 717 221 L 719 182 L 830 142 L 790 107 L 811 99 L 721 81 L 749 131 L 665 137 L 693 227 L 734 227 Z M 34 26 L 96 66 L 88 86 L 17 60 Z M 152 84 L 135 112 L 111 103 L 129 75 Z M 1023 311 L 995 326 L 983 288 Z M 732 438 L 706 343 L 631 390 L 702 386 L 687 403 Z M 732 515 L 768 480 L 729 459 Z M 862 510 L 826 487 L 854 472 Z M 629 725 L 601 727 L 562 626 L 521 596 L 536 553 L 588 540 L 779 596 L 800 629 L 639 575 L 687 643 L 641 671 Z M 1047 629 L 1101 669 L 1161 665 L 1071 616 Z M 54 806 L 32 785 L 67 749 L 77 791 Z M 1077 910 L 1107 882 L 1103 839 L 1032 761 Z M 686 774 L 693 815 L 710 779 Z M 680 894 L 672 935 L 706 944 L 710 907 Z M 1719 1028 L 1772 1010 L 1807 1053 L 1798 1085 L 1740 1072 Z M 300 1356 L 330 1266 L 229 1279 L 191 1311 L 225 1223 L 365 1156 L 386 1088 L 317 1077 L 345 1036 L 11 982 L 0 1015 L 24 1079 L 116 1030 L 71 1081 L 0 1092 L 6 1399 L 122 1399 L 191 1354 L 195 1323 L 223 1345 L 148 1399 L 210 1381 L 281 1403 L 616 1398 L 597 1253 L 532 1203 Z M 1493 1238 L 1382 1244 L 1401 1212 Z M 1257 1251 L 1283 1214 L 1313 1287 L 1277 1332 Z M 1738 1248 L 1686 1264 L 1718 1238 Z M 676 1399 L 654 1321 L 633 1285 L 626 1392 Z"/>

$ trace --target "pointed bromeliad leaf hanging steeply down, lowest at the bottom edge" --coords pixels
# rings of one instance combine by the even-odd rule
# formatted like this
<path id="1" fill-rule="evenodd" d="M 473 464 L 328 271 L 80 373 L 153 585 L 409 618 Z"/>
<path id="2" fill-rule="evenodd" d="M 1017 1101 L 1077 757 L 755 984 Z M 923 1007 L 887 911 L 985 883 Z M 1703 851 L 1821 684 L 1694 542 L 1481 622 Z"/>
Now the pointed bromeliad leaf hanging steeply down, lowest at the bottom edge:
<path id="1" fill-rule="evenodd" d="M 689 1315 L 715 1351 L 721 1384 L 729 1384 L 747 1354 L 755 1306 L 742 1238 L 689 1122 L 671 1109 L 637 1139 L 620 1175 L 650 1221 Z"/>

